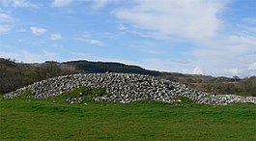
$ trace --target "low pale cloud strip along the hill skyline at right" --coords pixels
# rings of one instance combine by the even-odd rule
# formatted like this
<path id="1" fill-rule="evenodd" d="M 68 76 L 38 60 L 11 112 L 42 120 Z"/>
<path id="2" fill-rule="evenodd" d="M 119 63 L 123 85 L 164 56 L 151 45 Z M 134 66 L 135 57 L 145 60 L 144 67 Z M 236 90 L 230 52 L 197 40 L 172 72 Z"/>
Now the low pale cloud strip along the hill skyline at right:
<path id="1" fill-rule="evenodd" d="M 121 59 L 119 59 L 121 60 Z M 204 74 L 204 75 L 213 75 L 213 76 L 229 76 L 239 75 L 240 77 L 247 77 L 255 75 L 255 71 L 248 71 L 247 69 L 239 68 L 219 68 L 212 70 L 205 70 L 205 67 L 197 66 L 200 65 L 198 61 L 192 61 L 189 64 L 181 64 L 172 59 L 161 59 L 161 58 L 152 58 L 152 59 L 142 59 L 142 60 L 129 60 L 125 63 L 138 65 L 145 69 L 155 70 L 155 71 L 171 71 L 171 72 L 183 72 L 189 74 Z M 256 63 L 255 63 L 256 65 Z M 251 67 L 255 67 L 254 64 Z M 255 68 L 251 68 L 255 69 Z"/>

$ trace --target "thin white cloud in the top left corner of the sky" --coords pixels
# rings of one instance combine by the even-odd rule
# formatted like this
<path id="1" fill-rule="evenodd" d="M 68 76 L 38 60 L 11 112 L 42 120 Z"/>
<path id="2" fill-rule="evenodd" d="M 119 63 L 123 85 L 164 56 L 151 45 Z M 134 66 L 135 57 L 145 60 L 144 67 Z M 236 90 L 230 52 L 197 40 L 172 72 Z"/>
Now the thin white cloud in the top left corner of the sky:
<path id="1" fill-rule="evenodd" d="M 15 7 L 15 8 L 27 8 L 27 7 L 37 7 L 37 5 L 28 2 L 27 0 L 2 0 L 2 4 L 5 7 Z"/>

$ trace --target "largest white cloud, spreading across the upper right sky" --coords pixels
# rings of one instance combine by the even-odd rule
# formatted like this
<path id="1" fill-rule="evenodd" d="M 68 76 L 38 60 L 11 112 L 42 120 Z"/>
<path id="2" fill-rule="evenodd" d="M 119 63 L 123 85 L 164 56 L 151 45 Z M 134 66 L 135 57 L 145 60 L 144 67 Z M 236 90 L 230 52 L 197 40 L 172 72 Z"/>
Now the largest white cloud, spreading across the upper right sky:
<path id="1" fill-rule="evenodd" d="M 133 0 L 132 2 L 130 7 L 112 11 L 112 14 L 126 25 L 130 24 L 130 27 L 134 27 L 129 31 L 144 38 L 160 39 L 168 43 L 185 42 L 193 46 L 186 50 L 186 54 L 198 61 L 179 67 L 180 71 L 248 75 L 248 63 L 255 60 L 255 56 L 248 54 L 255 50 L 256 20 L 245 18 L 239 26 L 225 21 L 222 15 L 231 1 Z M 225 27 L 229 27 L 228 30 Z M 194 70 L 191 66 L 198 66 L 208 71 Z"/>

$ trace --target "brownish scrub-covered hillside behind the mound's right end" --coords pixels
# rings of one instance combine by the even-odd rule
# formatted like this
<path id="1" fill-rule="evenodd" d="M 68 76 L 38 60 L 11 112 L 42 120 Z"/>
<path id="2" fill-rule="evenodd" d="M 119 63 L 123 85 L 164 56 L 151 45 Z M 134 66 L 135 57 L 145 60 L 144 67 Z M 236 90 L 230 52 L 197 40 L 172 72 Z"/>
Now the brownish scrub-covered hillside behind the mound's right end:
<path id="1" fill-rule="evenodd" d="M 208 92 L 210 94 L 233 94 L 256 97 L 256 76 L 234 79 L 228 77 L 163 72 L 160 74 L 160 77 L 184 83 L 191 88 Z"/>

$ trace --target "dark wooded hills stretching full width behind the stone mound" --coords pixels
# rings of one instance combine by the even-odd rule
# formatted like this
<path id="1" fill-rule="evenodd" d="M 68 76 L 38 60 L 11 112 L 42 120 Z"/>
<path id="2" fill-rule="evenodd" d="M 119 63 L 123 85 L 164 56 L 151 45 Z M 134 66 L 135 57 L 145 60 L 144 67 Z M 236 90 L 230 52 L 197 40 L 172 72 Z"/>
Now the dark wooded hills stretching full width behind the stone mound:
<path id="1" fill-rule="evenodd" d="M 71 61 L 58 63 L 47 61 L 42 64 L 16 63 L 11 59 L 0 58 L 0 94 L 14 91 L 50 77 L 71 73 L 124 72 L 148 74 L 177 81 L 191 88 L 212 94 L 235 94 L 256 97 L 256 76 L 239 79 L 205 75 L 183 74 L 178 72 L 149 71 L 138 66 L 121 63 Z"/>

